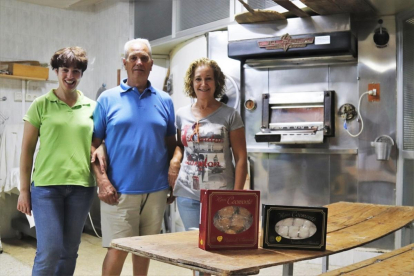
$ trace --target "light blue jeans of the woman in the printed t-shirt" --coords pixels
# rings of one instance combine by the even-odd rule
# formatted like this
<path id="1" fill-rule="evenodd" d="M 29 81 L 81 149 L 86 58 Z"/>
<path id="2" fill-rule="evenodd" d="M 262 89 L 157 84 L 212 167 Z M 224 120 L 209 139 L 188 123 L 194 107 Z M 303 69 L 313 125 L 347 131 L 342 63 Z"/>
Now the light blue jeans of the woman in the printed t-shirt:
<path id="1" fill-rule="evenodd" d="M 177 206 L 185 230 L 198 228 L 200 222 L 200 201 L 186 197 L 177 197 Z"/>

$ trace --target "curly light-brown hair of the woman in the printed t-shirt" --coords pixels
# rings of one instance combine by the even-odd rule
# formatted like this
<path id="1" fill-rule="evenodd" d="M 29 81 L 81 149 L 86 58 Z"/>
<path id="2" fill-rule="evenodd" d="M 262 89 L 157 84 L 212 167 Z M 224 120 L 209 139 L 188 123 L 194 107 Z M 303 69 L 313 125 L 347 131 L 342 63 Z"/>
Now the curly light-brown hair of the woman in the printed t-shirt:
<path id="1" fill-rule="evenodd" d="M 200 58 L 193 61 L 187 69 L 184 77 L 184 94 L 191 98 L 197 98 L 193 87 L 195 70 L 200 66 L 210 66 L 214 72 L 214 82 L 216 91 L 214 91 L 214 98 L 221 98 L 226 92 L 225 76 L 218 66 L 217 62 L 208 58 Z"/>

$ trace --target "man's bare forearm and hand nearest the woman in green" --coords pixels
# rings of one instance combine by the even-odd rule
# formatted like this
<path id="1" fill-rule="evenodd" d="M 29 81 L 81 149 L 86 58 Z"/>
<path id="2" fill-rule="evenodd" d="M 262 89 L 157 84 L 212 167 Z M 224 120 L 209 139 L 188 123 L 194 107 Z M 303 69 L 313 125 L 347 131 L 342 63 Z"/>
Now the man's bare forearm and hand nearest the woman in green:
<path id="1" fill-rule="evenodd" d="M 103 150 L 104 148 L 99 148 L 101 146 L 102 140 L 99 138 L 93 138 L 92 140 L 92 146 L 91 146 L 91 155 L 95 156 L 95 151 Z M 101 153 L 102 154 L 102 153 Z M 104 154 L 104 153 L 103 153 Z M 98 154 L 99 155 L 99 154 Z M 91 161 L 92 170 L 96 177 L 96 183 L 98 185 L 98 197 L 103 202 L 115 205 L 118 202 L 119 195 L 116 192 L 114 186 L 109 181 L 108 175 L 105 171 L 102 171 L 101 166 L 99 165 L 98 160 L 101 158 L 96 158 L 98 160 Z"/>

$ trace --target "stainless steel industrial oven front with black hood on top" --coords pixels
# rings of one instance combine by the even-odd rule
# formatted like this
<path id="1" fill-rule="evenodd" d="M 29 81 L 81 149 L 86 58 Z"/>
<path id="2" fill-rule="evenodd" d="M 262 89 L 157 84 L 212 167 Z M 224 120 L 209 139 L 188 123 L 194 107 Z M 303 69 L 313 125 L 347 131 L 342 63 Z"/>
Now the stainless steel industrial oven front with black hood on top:
<path id="1" fill-rule="evenodd" d="M 379 161 L 371 147 L 380 135 L 396 135 L 395 22 L 384 18 L 391 39 L 380 49 L 372 40 L 377 21 L 312 16 L 209 34 L 209 57 L 240 88 L 250 184 L 261 203 L 395 204 L 396 149 Z M 351 137 L 344 126 L 356 133 L 361 123 L 341 112 L 357 107 L 373 83 L 387 93 L 362 99 L 364 130 Z M 374 246 L 392 248 L 394 238 Z"/>

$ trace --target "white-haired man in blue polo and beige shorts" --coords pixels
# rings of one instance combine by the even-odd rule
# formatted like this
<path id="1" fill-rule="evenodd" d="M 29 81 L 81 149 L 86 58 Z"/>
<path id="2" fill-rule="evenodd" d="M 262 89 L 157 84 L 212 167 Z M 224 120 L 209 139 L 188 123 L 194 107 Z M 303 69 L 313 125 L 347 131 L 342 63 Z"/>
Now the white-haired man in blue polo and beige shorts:
<path id="1" fill-rule="evenodd" d="M 160 233 L 176 146 L 171 97 L 148 81 L 153 65 L 148 40 L 128 41 L 124 50 L 128 78 L 104 91 L 94 112 L 93 149 L 105 140 L 108 154 L 106 173 L 94 164 L 102 245 L 108 248 L 102 275 L 120 275 L 128 254 L 109 248 L 112 239 Z M 147 275 L 149 259 L 132 255 L 132 262 L 134 275 Z"/>

